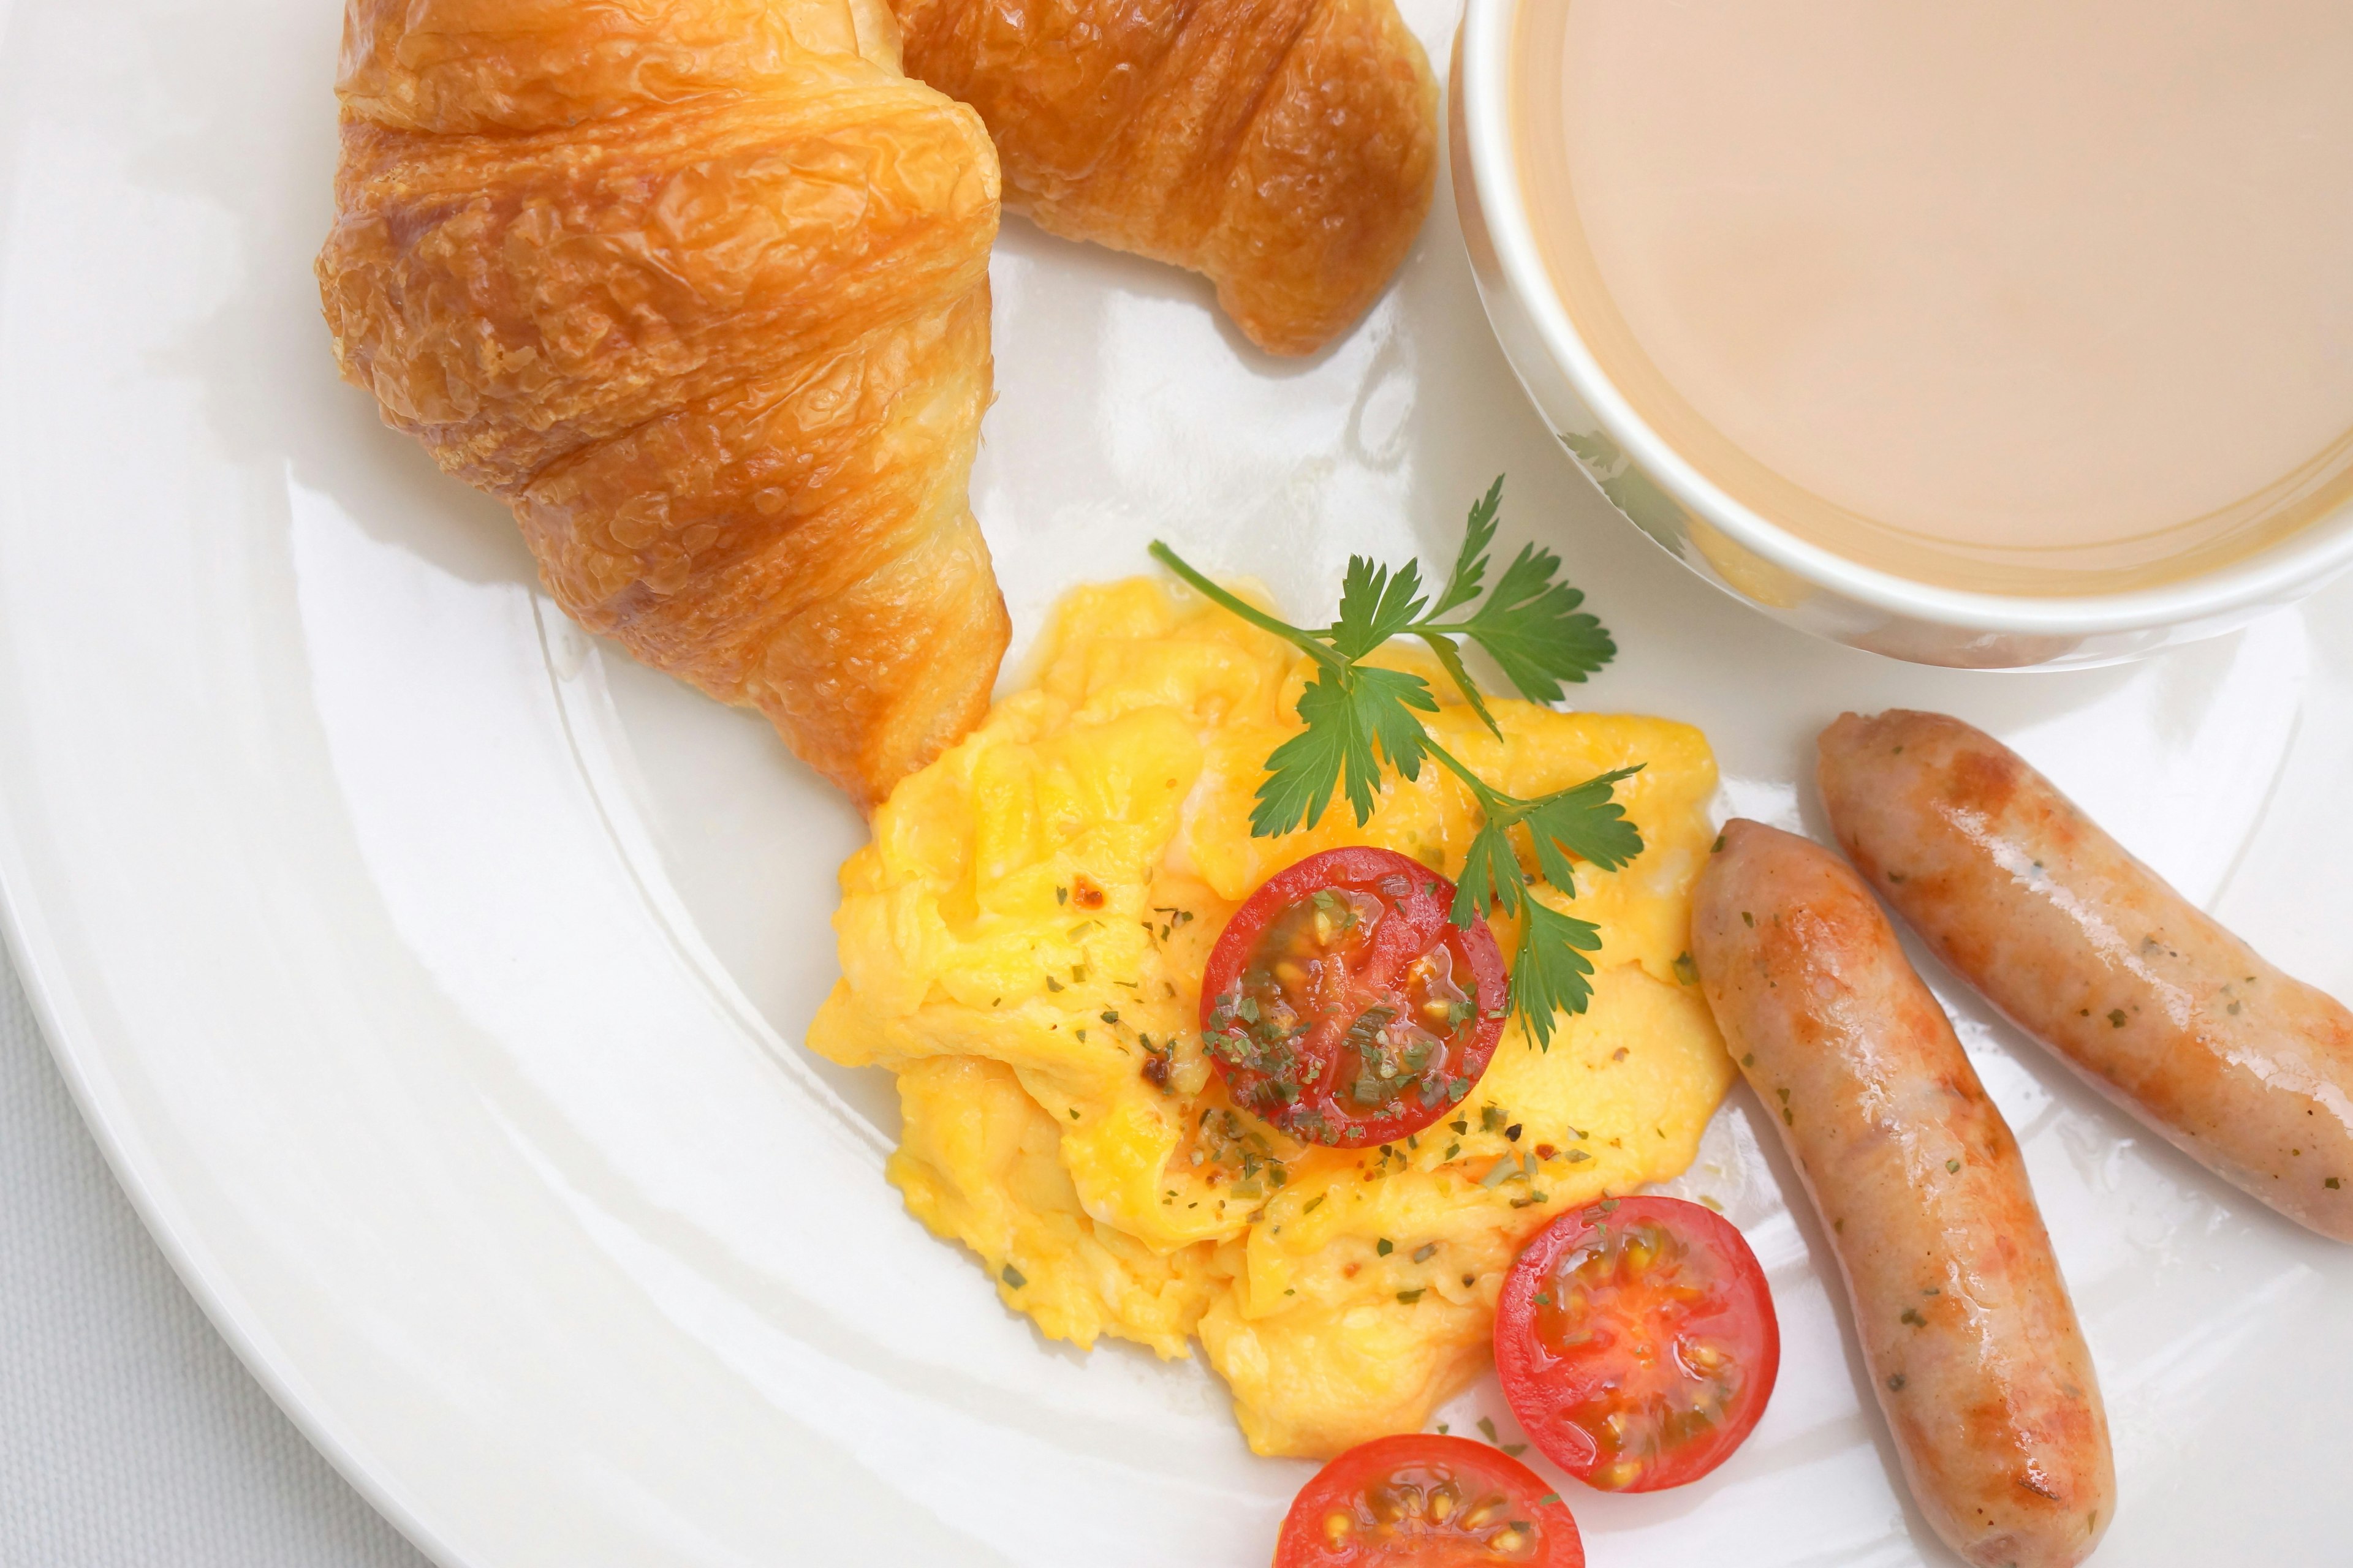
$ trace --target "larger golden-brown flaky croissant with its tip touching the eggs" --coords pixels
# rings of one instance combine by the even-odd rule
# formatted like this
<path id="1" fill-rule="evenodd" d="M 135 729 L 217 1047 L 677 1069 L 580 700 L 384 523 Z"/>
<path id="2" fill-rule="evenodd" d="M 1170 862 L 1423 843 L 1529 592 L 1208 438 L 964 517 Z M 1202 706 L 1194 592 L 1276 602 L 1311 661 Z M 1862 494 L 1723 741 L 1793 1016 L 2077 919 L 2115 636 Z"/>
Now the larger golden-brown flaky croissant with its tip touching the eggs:
<path id="1" fill-rule="evenodd" d="M 864 806 L 986 708 L 998 165 L 880 0 L 351 0 L 344 376 Z"/>

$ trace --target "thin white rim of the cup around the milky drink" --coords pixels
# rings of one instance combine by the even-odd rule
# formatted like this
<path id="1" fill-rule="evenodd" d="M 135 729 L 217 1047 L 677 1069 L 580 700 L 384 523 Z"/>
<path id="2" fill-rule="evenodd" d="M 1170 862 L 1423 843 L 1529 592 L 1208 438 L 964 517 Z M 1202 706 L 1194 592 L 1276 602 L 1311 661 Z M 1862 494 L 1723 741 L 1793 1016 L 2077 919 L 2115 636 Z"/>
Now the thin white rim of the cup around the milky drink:
<path id="1" fill-rule="evenodd" d="M 1600 418 L 1609 437 L 1675 501 L 1720 534 L 1817 588 L 1882 609 L 1981 632 L 2099 635 L 2181 625 L 2285 602 L 2353 564 L 2353 508 L 2252 557 L 2158 588 L 2113 595 L 2005 595 L 1939 588 L 1864 567 L 1734 501 L 1652 430 L 1602 371 L 1569 320 L 1537 244 L 1511 134 L 1511 52 L 1525 5 L 1537 0 L 1466 0 L 1459 33 L 1461 115 L 1471 181 L 1504 284 L 1534 324 L 1553 364 Z"/>

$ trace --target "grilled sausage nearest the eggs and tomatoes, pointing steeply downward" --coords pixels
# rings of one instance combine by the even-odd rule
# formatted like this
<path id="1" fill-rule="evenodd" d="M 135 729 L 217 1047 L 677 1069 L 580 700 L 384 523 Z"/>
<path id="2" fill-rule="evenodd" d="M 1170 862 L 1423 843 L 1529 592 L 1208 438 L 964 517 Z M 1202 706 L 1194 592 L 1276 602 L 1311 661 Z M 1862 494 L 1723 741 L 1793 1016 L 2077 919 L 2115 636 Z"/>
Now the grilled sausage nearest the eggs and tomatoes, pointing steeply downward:
<path id="1" fill-rule="evenodd" d="M 1831 1232 L 1920 1512 L 1979 1568 L 2068 1568 L 2115 1507 L 2108 1418 L 2019 1145 L 1871 889 L 1729 823 L 1692 954 Z"/>

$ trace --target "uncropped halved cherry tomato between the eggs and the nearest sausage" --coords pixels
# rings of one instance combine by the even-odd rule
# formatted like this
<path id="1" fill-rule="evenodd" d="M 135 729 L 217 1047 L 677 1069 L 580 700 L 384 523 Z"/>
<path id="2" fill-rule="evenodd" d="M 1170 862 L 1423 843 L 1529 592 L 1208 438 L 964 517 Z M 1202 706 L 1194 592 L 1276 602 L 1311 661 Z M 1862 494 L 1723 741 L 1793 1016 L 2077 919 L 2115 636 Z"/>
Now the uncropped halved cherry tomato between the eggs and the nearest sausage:
<path id="1" fill-rule="evenodd" d="M 1565 1213 L 1504 1274 L 1504 1399 L 1555 1465 L 1612 1493 L 1697 1481 L 1748 1436 L 1781 1324 L 1741 1232 L 1682 1199 Z"/>

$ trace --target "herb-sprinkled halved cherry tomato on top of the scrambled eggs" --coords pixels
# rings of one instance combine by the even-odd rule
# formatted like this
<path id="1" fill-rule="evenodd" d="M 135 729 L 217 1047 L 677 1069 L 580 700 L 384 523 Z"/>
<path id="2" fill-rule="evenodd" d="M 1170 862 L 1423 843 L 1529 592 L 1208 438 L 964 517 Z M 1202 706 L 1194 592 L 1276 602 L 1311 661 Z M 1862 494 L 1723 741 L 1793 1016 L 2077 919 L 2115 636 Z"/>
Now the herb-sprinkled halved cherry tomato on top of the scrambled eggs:
<path id="1" fill-rule="evenodd" d="M 1452 1112 L 1504 1034 L 1508 980 L 1454 884 L 1393 849 L 1327 849 L 1252 893 L 1209 952 L 1200 1034 L 1235 1105 L 1360 1150 Z"/>

